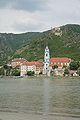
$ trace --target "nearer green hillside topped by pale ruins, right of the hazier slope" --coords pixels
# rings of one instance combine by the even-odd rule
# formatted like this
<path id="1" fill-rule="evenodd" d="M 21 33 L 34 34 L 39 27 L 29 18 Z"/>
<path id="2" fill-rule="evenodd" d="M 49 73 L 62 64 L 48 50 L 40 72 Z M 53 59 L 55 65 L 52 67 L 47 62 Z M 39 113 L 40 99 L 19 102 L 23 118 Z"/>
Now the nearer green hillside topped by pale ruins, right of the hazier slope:
<path id="1" fill-rule="evenodd" d="M 68 24 L 42 32 L 18 49 L 13 56 L 24 57 L 27 60 L 41 60 L 46 45 L 49 46 L 51 57 L 80 60 L 80 25 Z"/>

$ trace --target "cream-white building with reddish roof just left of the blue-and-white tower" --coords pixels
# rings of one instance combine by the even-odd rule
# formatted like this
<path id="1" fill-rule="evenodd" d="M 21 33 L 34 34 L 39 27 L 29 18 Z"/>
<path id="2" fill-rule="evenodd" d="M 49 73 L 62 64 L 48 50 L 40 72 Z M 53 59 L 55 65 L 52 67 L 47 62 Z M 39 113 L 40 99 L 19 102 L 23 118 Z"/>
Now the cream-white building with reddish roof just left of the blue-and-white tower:
<path id="1" fill-rule="evenodd" d="M 34 71 L 35 74 L 40 74 L 43 71 L 43 63 L 38 61 L 24 62 L 20 66 L 21 76 L 25 76 L 27 71 Z"/>

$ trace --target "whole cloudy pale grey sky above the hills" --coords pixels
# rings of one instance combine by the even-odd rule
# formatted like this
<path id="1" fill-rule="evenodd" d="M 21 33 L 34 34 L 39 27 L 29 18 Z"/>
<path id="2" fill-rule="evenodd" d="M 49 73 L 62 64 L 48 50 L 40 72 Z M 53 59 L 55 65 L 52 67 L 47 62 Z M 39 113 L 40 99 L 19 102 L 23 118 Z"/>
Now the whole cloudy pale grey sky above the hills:
<path id="1" fill-rule="evenodd" d="M 0 0 L 0 33 L 80 24 L 80 0 Z"/>

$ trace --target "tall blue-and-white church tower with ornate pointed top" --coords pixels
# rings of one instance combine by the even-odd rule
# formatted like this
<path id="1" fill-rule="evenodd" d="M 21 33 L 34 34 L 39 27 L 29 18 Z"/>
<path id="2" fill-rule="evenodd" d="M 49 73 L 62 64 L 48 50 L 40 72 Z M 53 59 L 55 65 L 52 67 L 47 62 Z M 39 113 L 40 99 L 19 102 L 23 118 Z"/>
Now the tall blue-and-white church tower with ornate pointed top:
<path id="1" fill-rule="evenodd" d="M 50 54 L 49 54 L 49 48 L 46 46 L 45 53 L 44 53 L 44 70 L 43 74 L 48 75 L 49 73 L 49 64 L 50 64 Z"/>

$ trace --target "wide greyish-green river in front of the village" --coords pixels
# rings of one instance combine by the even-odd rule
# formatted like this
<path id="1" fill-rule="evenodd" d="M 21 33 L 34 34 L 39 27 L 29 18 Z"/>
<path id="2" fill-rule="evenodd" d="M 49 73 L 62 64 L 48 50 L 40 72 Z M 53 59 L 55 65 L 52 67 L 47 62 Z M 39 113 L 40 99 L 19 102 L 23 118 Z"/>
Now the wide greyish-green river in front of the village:
<path id="1" fill-rule="evenodd" d="M 0 120 L 9 119 L 80 120 L 80 78 L 0 78 Z"/>

